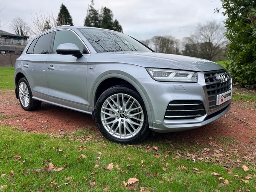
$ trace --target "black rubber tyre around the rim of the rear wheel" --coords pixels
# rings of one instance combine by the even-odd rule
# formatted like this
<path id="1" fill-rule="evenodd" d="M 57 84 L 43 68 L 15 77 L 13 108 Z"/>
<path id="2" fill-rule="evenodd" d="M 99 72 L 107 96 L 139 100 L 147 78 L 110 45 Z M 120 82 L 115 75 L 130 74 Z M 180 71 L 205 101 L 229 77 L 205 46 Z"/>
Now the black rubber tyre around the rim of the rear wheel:
<path id="1" fill-rule="evenodd" d="M 24 82 L 26 84 L 26 86 L 28 87 L 28 90 L 29 90 L 29 105 L 27 107 L 24 107 L 20 101 L 20 94 L 19 94 L 19 87 L 20 87 L 20 83 L 21 82 Z M 17 84 L 17 90 L 18 90 L 18 96 L 19 96 L 19 101 L 20 101 L 20 105 L 21 107 L 26 110 L 26 111 L 32 111 L 32 110 L 35 110 L 37 108 L 40 107 L 41 105 L 41 102 L 40 101 L 37 101 L 37 100 L 34 100 L 32 99 L 32 91 L 31 91 L 31 88 L 29 86 L 29 82 L 25 79 L 25 78 L 21 78 Z"/>

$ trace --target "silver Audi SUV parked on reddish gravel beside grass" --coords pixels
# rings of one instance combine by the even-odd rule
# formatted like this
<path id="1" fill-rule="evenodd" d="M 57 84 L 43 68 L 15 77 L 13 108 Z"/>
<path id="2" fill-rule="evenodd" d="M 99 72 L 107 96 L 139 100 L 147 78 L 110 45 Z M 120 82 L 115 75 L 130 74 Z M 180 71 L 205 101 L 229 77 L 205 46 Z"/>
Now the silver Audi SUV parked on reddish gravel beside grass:
<path id="1" fill-rule="evenodd" d="M 232 79 L 212 61 L 156 53 L 123 33 L 59 26 L 26 46 L 15 64 L 26 111 L 41 102 L 93 116 L 117 143 L 198 128 L 230 109 Z"/>

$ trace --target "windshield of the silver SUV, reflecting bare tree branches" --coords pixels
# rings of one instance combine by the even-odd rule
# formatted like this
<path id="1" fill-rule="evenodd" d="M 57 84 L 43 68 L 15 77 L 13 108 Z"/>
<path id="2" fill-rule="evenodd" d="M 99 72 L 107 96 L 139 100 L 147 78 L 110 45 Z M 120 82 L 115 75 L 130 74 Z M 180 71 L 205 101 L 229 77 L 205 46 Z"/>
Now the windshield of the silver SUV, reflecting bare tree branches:
<path id="1" fill-rule="evenodd" d="M 79 28 L 79 31 L 94 47 L 96 52 L 145 51 L 151 52 L 143 44 L 120 32 L 104 29 Z"/>

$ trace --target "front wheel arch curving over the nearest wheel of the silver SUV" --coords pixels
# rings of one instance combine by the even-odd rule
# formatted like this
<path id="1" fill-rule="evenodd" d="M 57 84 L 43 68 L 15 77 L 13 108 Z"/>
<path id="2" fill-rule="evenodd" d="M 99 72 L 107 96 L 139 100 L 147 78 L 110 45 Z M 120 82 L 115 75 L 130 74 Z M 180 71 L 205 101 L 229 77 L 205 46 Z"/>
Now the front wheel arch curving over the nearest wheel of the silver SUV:
<path id="1" fill-rule="evenodd" d="M 141 96 L 143 99 L 144 105 L 147 110 L 148 114 L 148 125 L 149 128 L 153 128 L 152 124 L 152 116 L 151 116 L 151 109 L 150 109 L 150 104 L 149 104 L 149 97 L 147 94 L 145 94 L 145 90 L 143 91 L 142 85 L 136 80 L 136 79 L 130 79 L 127 76 L 124 76 L 122 74 L 108 74 L 103 76 L 99 81 L 96 82 L 94 89 L 92 91 L 92 115 L 94 119 L 94 109 L 97 100 L 99 99 L 99 96 L 108 88 L 113 87 L 115 85 L 120 85 L 120 84 L 127 84 L 136 90 L 136 92 Z"/>

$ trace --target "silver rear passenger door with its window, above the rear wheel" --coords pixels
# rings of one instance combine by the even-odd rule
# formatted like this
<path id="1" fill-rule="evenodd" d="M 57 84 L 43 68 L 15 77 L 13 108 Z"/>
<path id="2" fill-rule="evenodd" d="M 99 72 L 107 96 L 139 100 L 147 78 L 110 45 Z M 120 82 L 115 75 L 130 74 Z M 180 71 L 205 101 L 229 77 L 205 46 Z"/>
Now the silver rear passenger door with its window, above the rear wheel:
<path id="1" fill-rule="evenodd" d="M 35 39 L 23 57 L 22 69 L 32 90 L 34 99 L 49 102 L 46 61 L 49 56 L 53 32 Z"/>

